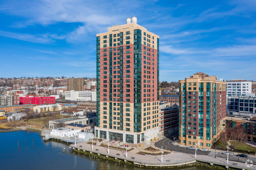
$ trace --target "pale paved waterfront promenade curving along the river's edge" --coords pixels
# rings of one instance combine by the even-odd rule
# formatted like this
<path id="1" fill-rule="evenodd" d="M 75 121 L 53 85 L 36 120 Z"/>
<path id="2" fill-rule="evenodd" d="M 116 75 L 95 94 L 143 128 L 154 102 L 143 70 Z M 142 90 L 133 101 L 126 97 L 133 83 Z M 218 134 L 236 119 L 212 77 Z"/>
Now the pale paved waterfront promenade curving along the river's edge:
<path id="1" fill-rule="evenodd" d="M 86 142 L 71 144 L 70 148 L 72 149 L 78 149 L 82 151 L 87 151 L 91 153 L 95 153 L 98 155 L 104 155 L 106 157 L 113 157 L 115 159 L 121 159 L 126 161 L 130 161 L 134 163 L 135 165 L 143 165 L 143 166 L 180 166 L 180 165 L 186 165 L 190 163 L 195 162 L 204 162 L 208 163 L 209 165 L 221 165 L 221 166 L 228 166 L 228 167 L 234 167 L 234 168 L 240 168 L 240 169 L 248 169 L 248 170 L 256 170 L 256 165 L 252 165 L 250 161 L 246 163 L 241 163 L 237 161 L 228 161 L 224 158 L 217 157 L 215 158 L 215 154 L 211 152 L 208 155 L 197 155 L 195 158 L 195 154 L 186 154 L 181 152 L 171 152 L 168 155 L 161 155 L 158 156 L 147 156 L 147 155 L 141 155 L 134 153 L 136 149 L 131 150 L 127 153 L 126 157 L 126 150 L 116 150 L 113 148 L 109 148 L 109 154 L 108 154 L 108 148 L 98 145 L 92 145 L 88 144 Z M 163 152 L 168 152 L 167 150 L 163 150 Z M 161 160 L 162 159 L 162 160 Z"/>

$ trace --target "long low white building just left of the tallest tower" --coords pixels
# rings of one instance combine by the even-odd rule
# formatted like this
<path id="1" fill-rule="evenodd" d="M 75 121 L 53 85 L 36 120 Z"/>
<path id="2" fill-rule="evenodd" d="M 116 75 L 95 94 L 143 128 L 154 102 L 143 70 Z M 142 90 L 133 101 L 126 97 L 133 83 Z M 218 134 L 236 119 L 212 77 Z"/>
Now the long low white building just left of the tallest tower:
<path id="1" fill-rule="evenodd" d="M 65 100 L 96 102 L 96 91 L 65 91 Z"/>

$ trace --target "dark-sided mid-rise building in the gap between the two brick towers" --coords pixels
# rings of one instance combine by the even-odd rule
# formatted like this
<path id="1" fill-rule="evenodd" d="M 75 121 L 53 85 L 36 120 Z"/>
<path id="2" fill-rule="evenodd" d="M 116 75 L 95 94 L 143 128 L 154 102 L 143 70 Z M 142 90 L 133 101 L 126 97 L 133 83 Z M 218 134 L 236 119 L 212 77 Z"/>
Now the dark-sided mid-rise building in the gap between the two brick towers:
<path id="1" fill-rule="evenodd" d="M 171 135 L 179 130 L 179 108 L 177 105 L 160 109 L 159 115 L 161 137 Z"/>

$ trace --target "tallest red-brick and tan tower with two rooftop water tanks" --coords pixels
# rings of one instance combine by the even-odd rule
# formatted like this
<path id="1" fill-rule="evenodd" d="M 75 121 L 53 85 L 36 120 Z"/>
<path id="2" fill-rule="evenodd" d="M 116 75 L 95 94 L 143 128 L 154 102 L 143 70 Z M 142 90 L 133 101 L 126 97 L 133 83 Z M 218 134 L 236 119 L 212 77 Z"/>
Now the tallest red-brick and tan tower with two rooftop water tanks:
<path id="1" fill-rule="evenodd" d="M 159 37 L 127 18 L 96 35 L 95 137 L 127 143 L 159 136 Z"/>

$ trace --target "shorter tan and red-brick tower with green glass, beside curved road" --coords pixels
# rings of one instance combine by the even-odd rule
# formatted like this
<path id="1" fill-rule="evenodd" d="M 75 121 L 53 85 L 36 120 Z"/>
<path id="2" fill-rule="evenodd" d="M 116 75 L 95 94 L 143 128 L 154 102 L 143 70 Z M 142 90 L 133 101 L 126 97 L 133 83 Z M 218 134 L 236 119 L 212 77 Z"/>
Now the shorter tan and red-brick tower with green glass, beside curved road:
<path id="1" fill-rule="evenodd" d="M 180 144 L 210 148 L 220 137 L 226 117 L 226 82 L 202 72 L 179 80 Z"/>

